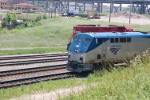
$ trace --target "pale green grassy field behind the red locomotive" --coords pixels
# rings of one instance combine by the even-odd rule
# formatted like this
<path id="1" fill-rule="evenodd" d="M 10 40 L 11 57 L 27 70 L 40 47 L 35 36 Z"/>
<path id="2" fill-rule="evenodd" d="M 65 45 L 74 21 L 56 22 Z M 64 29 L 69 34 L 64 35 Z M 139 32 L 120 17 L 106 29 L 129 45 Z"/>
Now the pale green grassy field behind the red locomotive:
<path id="1" fill-rule="evenodd" d="M 150 25 L 92 21 L 83 18 L 53 18 L 41 21 L 42 25 L 23 29 L 0 29 L 1 48 L 66 46 L 79 24 L 131 26 L 135 31 L 149 31 Z"/>

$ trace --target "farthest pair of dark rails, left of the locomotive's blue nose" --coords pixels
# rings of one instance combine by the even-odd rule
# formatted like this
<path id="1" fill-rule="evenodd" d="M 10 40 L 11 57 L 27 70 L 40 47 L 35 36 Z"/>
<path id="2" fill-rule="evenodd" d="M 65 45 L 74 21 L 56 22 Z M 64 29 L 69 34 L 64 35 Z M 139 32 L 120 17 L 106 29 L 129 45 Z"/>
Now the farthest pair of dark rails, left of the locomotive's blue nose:
<path id="1" fill-rule="evenodd" d="M 36 55 L 21 55 L 21 56 L 1 56 L 1 66 L 12 66 L 12 65 L 27 65 L 34 63 L 47 63 L 47 62 L 58 62 L 66 61 L 67 53 L 58 54 L 36 54 Z"/>

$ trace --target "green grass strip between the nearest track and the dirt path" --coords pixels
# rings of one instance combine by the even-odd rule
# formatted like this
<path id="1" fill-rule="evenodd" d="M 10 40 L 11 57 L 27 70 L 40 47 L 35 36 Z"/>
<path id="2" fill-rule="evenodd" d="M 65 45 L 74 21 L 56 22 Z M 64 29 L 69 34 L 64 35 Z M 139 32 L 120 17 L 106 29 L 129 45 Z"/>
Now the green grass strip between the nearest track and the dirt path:
<path id="1" fill-rule="evenodd" d="M 60 80 L 60 81 L 48 81 L 48 82 L 40 82 L 36 84 L 31 84 L 28 86 L 20 86 L 16 88 L 10 89 L 0 89 L 0 100 L 19 97 L 24 94 L 37 94 L 37 93 L 45 93 L 59 88 L 67 88 L 75 85 L 79 85 L 82 81 L 74 80 Z M 75 84 L 74 84 L 75 82 Z M 67 84 L 67 85 L 66 85 Z"/>

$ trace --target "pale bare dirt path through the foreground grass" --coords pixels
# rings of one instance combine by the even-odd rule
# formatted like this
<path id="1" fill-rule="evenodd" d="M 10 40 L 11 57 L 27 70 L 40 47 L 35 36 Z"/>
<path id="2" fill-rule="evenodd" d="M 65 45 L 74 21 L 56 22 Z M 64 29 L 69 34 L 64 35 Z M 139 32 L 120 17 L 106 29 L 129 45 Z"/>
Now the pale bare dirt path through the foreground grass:
<path id="1" fill-rule="evenodd" d="M 50 91 L 48 93 L 24 95 L 18 98 L 11 98 L 7 100 L 58 100 L 58 98 L 71 95 L 72 93 L 73 94 L 80 93 L 85 88 L 88 88 L 88 87 L 76 86 L 72 88 L 64 88 L 64 89 L 58 89 L 56 91 Z"/>

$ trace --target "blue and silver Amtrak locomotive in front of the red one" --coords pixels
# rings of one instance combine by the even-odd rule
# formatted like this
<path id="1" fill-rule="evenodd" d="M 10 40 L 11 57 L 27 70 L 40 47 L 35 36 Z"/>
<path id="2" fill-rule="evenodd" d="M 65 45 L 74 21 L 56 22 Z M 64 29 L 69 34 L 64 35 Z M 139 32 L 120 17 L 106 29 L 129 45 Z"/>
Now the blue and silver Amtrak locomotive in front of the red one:
<path id="1" fill-rule="evenodd" d="M 68 48 L 67 69 L 90 71 L 96 64 L 128 60 L 148 48 L 150 34 L 145 32 L 79 33 Z"/>

